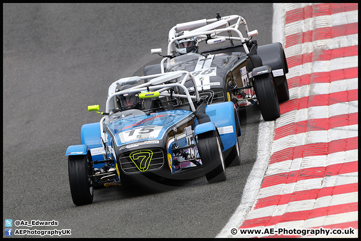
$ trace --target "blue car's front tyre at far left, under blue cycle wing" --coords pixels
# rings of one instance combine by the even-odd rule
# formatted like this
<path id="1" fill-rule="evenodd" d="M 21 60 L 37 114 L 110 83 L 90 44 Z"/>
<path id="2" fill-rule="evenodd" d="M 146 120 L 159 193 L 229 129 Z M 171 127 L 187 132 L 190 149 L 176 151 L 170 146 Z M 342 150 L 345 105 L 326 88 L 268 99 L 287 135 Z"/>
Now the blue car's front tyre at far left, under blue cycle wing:
<path id="1" fill-rule="evenodd" d="M 85 205 L 93 202 L 92 169 L 89 166 L 88 155 L 69 156 L 69 184 L 75 205 Z"/>

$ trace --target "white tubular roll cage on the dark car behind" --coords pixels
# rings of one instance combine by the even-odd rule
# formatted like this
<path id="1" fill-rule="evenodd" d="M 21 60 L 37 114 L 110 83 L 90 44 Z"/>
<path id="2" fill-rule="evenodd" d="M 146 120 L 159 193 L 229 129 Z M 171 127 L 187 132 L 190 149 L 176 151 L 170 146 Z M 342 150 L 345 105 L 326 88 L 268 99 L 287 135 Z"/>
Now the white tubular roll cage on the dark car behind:
<path id="1" fill-rule="evenodd" d="M 230 24 L 231 21 L 237 21 L 235 24 Z M 239 26 L 243 24 L 247 37 L 244 38 L 242 33 L 238 30 Z M 196 29 L 194 29 L 196 28 Z M 194 29 L 194 30 L 191 30 Z M 179 37 L 175 37 L 180 31 L 184 30 L 191 30 L 189 34 L 182 35 Z M 221 33 L 227 32 L 228 36 L 218 36 Z M 235 32 L 238 37 L 232 37 L 231 32 Z M 222 37 L 222 39 L 226 40 L 237 40 L 241 41 L 245 52 L 248 54 L 249 50 L 247 48 L 246 42 L 251 39 L 252 36 L 255 36 L 258 34 L 257 30 L 254 30 L 252 32 L 248 31 L 246 20 L 239 16 L 239 15 L 230 15 L 226 17 L 221 17 L 220 19 L 203 19 L 203 20 L 197 20 L 182 24 L 177 24 L 173 28 L 169 30 L 168 34 L 168 48 L 167 48 L 167 57 L 163 58 L 161 60 L 160 66 L 161 66 L 161 72 L 164 73 L 164 61 L 167 60 L 167 68 L 169 68 L 169 61 L 170 57 L 174 56 L 175 50 L 174 50 L 174 42 L 176 40 L 180 39 L 188 39 L 192 37 L 197 37 L 198 42 L 208 41 L 210 39 L 217 39 L 219 37 Z M 219 41 L 224 42 L 224 41 Z M 214 43 L 214 42 L 213 42 Z"/>

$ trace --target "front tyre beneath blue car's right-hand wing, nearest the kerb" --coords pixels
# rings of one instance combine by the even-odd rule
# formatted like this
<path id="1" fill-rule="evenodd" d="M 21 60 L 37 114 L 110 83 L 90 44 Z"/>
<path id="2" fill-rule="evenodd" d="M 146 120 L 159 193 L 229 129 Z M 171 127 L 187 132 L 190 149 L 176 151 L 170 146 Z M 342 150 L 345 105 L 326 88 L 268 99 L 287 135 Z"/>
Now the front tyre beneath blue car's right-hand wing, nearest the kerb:
<path id="1" fill-rule="evenodd" d="M 217 132 L 206 132 L 198 135 L 198 151 L 202 163 L 206 166 L 206 178 L 209 183 L 226 180 L 226 166 L 221 147 L 221 138 Z"/>

